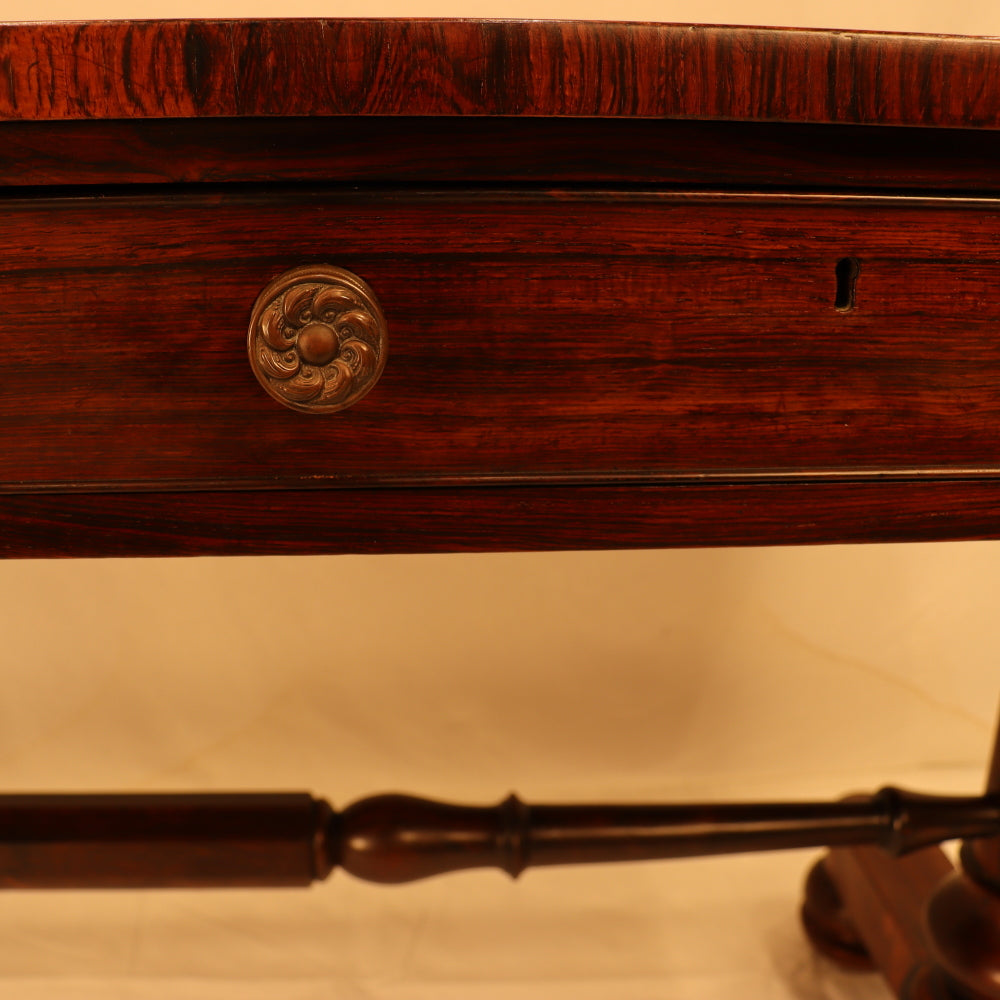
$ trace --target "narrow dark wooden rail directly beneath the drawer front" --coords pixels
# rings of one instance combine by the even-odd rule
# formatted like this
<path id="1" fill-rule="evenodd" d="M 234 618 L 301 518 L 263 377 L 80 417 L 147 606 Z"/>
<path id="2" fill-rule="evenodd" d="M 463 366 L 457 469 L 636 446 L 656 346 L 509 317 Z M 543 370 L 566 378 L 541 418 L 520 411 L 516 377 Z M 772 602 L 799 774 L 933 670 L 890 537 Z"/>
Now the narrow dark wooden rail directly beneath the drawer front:
<path id="1" fill-rule="evenodd" d="M 1000 537 L 1000 478 L 0 495 L 0 554 L 505 552 Z"/>

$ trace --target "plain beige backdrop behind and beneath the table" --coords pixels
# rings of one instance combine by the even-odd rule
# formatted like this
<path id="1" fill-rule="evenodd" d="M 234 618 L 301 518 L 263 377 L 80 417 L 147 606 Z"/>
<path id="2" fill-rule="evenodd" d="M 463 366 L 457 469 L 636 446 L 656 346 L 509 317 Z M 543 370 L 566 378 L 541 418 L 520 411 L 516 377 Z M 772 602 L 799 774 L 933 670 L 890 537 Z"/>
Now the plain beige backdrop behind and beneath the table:
<path id="1" fill-rule="evenodd" d="M 989 33 L 982 3 L 6 0 L 10 18 L 522 15 Z M 0 787 L 459 800 L 974 791 L 993 544 L 0 564 Z M 812 855 L 382 889 L 9 894 L 0 991 L 715 1000 L 881 995 L 795 921 Z"/>

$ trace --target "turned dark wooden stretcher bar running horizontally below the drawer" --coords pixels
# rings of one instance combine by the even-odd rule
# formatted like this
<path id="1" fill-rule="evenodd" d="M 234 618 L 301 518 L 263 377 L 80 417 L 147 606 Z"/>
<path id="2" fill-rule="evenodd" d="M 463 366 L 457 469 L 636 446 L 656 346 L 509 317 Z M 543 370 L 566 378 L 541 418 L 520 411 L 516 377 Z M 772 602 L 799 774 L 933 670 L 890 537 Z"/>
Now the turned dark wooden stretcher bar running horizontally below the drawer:
<path id="1" fill-rule="evenodd" d="M 342 812 L 308 794 L 0 796 L 0 886 L 297 886 L 335 867 L 372 882 L 464 868 L 876 844 L 904 854 L 1000 832 L 1000 795 L 886 788 L 840 802 L 458 806 L 406 795 Z"/>

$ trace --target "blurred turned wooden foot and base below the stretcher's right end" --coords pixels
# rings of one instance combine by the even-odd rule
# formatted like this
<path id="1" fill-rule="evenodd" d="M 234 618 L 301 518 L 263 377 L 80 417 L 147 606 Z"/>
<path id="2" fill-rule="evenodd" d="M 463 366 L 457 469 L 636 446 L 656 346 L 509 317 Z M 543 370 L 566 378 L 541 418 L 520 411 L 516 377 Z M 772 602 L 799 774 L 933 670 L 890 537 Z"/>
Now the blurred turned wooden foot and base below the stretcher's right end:
<path id="1" fill-rule="evenodd" d="M 809 873 L 802 921 L 818 951 L 880 970 L 900 1000 L 1000 1000 L 1000 897 L 936 847 L 830 851 Z"/>

